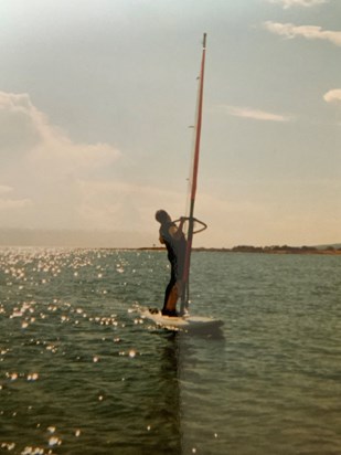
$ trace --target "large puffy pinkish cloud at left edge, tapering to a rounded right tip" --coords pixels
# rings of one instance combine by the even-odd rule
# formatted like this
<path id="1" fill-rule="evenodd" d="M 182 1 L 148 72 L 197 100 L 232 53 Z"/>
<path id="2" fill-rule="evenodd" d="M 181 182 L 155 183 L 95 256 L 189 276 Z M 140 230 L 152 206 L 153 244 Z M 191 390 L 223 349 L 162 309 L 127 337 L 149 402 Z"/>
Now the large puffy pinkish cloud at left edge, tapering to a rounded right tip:
<path id="1" fill-rule="evenodd" d="M 32 104 L 28 94 L 0 92 L 0 129 L 2 161 L 13 155 L 17 159 L 20 152 L 35 163 L 40 160 L 68 170 L 107 166 L 121 155 L 107 144 L 72 141 Z"/>

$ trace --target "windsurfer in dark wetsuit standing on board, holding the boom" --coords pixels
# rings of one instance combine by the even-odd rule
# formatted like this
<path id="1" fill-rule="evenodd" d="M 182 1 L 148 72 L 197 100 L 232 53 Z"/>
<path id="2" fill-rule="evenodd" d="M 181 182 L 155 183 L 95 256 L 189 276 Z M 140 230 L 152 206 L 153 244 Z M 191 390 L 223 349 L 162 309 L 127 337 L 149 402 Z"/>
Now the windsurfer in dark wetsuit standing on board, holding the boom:
<path id="1" fill-rule="evenodd" d="M 162 315 L 178 316 L 177 303 L 182 292 L 182 276 L 185 261 L 187 240 L 182 232 L 185 218 L 180 219 L 180 224 L 171 220 L 164 210 L 158 210 L 156 220 L 161 224 L 159 231 L 160 243 L 164 244 L 168 251 L 168 260 L 171 265 L 170 282 L 164 292 Z"/>

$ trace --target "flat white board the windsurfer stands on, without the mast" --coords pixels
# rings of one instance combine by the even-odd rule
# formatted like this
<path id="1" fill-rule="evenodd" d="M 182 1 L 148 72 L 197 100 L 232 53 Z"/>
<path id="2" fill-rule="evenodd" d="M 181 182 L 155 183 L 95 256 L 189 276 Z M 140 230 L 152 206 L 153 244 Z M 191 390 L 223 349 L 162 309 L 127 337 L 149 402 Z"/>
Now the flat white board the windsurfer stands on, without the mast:
<path id="1" fill-rule="evenodd" d="M 154 311 L 154 310 L 153 310 Z M 169 330 L 212 330 L 223 326 L 223 321 L 205 316 L 163 316 L 161 311 L 150 313 L 149 308 L 140 308 L 141 317 L 152 320 L 157 326 Z"/>

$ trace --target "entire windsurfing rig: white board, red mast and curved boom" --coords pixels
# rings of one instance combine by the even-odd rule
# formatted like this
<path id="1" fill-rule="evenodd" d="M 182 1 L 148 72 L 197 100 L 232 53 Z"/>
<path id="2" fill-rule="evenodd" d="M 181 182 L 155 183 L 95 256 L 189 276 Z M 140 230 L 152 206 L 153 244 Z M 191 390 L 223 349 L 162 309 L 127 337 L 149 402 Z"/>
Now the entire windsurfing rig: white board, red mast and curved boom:
<path id="1" fill-rule="evenodd" d="M 190 267 L 191 267 L 191 254 L 193 235 L 202 232 L 207 225 L 194 218 L 194 205 L 196 195 L 198 171 L 199 171 L 199 157 L 200 157 L 200 142 L 201 142 L 201 129 L 202 129 L 202 112 L 203 112 L 203 89 L 204 89 L 204 71 L 205 71 L 205 55 L 206 55 L 206 33 L 203 35 L 202 42 L 202 59 L 199 75 L 198 85 L 198 98 L 196 98 L 196 113 L 194 124 L 194 148 L 192 154 L 192 163 L 189 178 L 189 203 L 187 220 L 187 248 L 184 258 L 184 272 L 182 277 L 182 292 L 181 292 L 181 306 L 180 316 L 166 316 L 158 309 L 140 308 L 142 318 L 147 318 L 160 327 L 171 330 L 196 330 L 196 329 L 214 329 L 221 327 L 224 322 L 220 319 L 214 319 L 205 316 L 192 316 L 189 313 L 190 305 Z M 181 220 L 181 219 L 180 219 Z M 174 223 L 180 220 L 175 220 Z"/>

